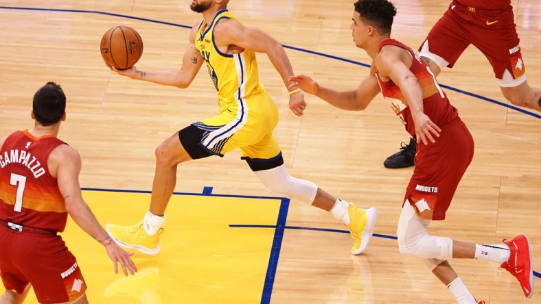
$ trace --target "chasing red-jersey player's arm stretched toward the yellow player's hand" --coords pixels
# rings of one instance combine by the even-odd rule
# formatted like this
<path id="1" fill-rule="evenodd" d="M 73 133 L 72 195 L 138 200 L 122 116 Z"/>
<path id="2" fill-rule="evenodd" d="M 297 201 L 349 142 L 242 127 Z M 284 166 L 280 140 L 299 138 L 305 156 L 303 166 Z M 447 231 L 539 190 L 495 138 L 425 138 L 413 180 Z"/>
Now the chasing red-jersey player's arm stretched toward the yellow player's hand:
<path id="1" fill-rule="evenodd" d="M 319 86 L 314 79 L 306 75 L 295 75 L 289 78 L 291 88 L 300 88 L 304 92 L 314 94 L 331 105 L 343 110 L 365 110 L 370 101 L 380 92 L 378 79 L 371 72 L 363 79 L 356 90 L 338 91 Z"/>

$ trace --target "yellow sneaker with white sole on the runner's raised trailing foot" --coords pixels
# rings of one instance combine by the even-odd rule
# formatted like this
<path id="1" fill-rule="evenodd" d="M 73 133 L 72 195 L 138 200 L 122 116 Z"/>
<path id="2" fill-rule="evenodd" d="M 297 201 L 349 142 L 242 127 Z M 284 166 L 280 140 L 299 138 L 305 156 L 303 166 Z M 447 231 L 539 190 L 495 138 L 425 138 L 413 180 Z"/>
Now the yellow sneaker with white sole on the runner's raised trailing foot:
<path id="1" fill-rule="evenodd" d="M 354 241 L 352 254 L 358 255 L 367 248 L 372 238 L 378 210 L 376 208 L 357 208 L 354 204 L 349 203 L 347 214 L 349 215 L 349 232 L 352 233 Z"/>

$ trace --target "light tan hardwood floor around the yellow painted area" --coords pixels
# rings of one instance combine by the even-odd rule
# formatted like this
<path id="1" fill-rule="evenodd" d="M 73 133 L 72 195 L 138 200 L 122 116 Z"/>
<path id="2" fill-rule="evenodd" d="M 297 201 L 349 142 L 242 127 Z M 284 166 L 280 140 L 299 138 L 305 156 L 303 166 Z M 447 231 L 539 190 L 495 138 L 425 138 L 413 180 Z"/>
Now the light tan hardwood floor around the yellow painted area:
<path id="1" fill-rule="evenodd" d="M 311 75 L 325 86 L 354 88 L 368 73 L 365 64 L 370 61 L 352 42 L 353 2 L 233 0 L 229 9 L 245 25 L 260 27 L 284 43 L 297 73 Z M 448 1 L 429 0 L 394 3 L 398 15 L 393 37 L 414 49 L 448 5 Z M 541 87 L 541 1 L 512 3 L 528 82 Z M 199 19 L 189 10 L 189 1 L 180 0 L 0 1 L 0 134 L 32 127 L 32 95 L 46 81 L 56 81 L 69 99 L 60 138 L 82 155 L 82 187 L 150 190 L 154 148 L 185 125 L 214 116 L 218 110 L 215 91 L 204 68 L 186 90 L 120 77 L 104 66 L 100 40 L 115 25 L 134 27 L 144 41 L 139 68 L 178 68 L 189 27 Z M 412 172 L 411 168 L 382 166 L 400 142 L 408 141 L 388 103 L 378 96 L 364 112 L 345 112 L 307 96 L 308 110 L 299 118 L 288 110 L 286 88 L 268 58 L 260 55 L 258 59 L 260 79 L 279 107 L 275 136 L 290 173 L 359 206 L 378 207 L 375 232 L 382 236 L 373 238 L 367 251 L 354 257 L 349 254 L 349 236 L 332 230 L 345 227 L 321 210 L 291 201 L 286 225 L 319 230 L 286 229 L 270 286 L 270 303 L 454 303 L 424 264 L 402 257 L 395 240 L 384 237 L 395 236 Z M 488 244 L 527 233 L 533 267 L 539 272 L 540 113 L 505 106 L 492 68 L 474 48 L 467 49 L 457 65 L 438 79 L 448 87 L 452 104 L 470 128 L 476 151 L 448 218 L 433 223 L 430 233 Z M 215 194 L 273 196 L 239 160 L 238 151 L 223 159 L 210 157 L 183 164 L 178 176 L 178 192 L 201 193 L 204 187 L 212 187 Z M 117 222 L 135 223 L 148 203 L 131 207 L 129 216 L 119 209 L 112 217 Z M 180 217 L 168 213 L 168 223 Z M 166 233 L 174 235 L 175 231 Z M 170 240 L 174 242 L 173 237 Z M 74 252 L 84 251 L 95 248 L 92 242 L 88 237 L 68 242 L 68 246 Z M 143 266 L 149 260 L 140 255 L 136 258 Z M 470 260 L 452 260 L 451 264 L 477 299 L 502 304 L 541 301 L 540 291 L 533 299 L 525 299 L 516 279 L 496 264 Z M 191 266 L 197 268 L 197 264 Z M 155 268 L 147 271 L 155 273 Z M 186 270 L 179 267 L 176 271 Z M 102 275 L 110 277 L 111 273 Z M 539 273 L 535 281 L 541 286 Z M 171 278 L 160 284 L 157 290 L 176 288 Z M 91 300 L 96 299 L 91 292 L 104 292 L 92 291 L 99 285 L 89 285 Z M 152 303 L 148 298 L 134 299 L 123 303 Z M 33 294 L 29 296 L 29 303 L 35 303 L 32 301 Z M 170 303 L 201 302 L 179 295 Z"/>

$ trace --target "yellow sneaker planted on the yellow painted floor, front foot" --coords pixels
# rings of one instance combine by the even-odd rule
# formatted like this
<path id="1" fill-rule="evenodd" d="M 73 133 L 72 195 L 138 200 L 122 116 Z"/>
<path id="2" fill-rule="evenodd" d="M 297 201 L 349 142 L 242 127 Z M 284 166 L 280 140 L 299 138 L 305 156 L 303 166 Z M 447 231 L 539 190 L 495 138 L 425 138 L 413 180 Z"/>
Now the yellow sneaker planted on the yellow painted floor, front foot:
<path id="1" fill-rule="evenodd" d="M 149 236 L 146 233 L 143 222 L 133 226 L 107 224 L 105 230 L 119 246 L 135 249 L 148 255 L 155 255 L 160 252 L 159 240 L 163 228 L 160 228 L 154 236 Z"/>

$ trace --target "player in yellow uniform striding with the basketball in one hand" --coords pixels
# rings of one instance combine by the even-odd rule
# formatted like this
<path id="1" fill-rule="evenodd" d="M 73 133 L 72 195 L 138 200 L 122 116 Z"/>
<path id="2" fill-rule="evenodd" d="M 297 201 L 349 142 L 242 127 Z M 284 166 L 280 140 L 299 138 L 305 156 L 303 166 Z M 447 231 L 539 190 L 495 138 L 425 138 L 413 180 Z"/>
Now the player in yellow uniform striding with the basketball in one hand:
<path id="1" fill-rule="evenodd" d="M 145 72 L 135 66 L 118 71 L 120 75 L 165 86 L 187 88 L 203 63 L 218 92 L 220 114 L 192 123 L 166 139 L 156 149 L 156 172 L 152 184 L 150 210 L 133 226 L 108 224 L 109 235 L 120 245 L 142 253 L 160 250 L 165 208 L 176 185 L 177 165 L 211 155 L 222 156 L 240 149 L 241 158 L 271 192 L 310 203 L 349 227 L 353 254 L 367 246 L 376 224 L 376 208 L 367 210 L 336 199 L 314 183 L 290 176 L 284 167 L 280 148 L 273 136 L 278 111 L 258 79 L 255 53 L 266 53 L 284 80 L 294 75 L 284 47 L 254 27 L 244 27 L 227 10 L 229 0 L 193 0 L 190 8 L 203 14 L 189 34 L 189 47 L 177 71 Z M 303 93 L 290 89 L 289 106 L 298 116 L 306 107 Z"/>

